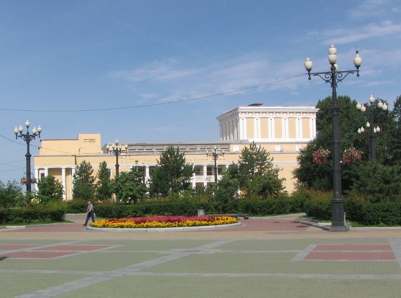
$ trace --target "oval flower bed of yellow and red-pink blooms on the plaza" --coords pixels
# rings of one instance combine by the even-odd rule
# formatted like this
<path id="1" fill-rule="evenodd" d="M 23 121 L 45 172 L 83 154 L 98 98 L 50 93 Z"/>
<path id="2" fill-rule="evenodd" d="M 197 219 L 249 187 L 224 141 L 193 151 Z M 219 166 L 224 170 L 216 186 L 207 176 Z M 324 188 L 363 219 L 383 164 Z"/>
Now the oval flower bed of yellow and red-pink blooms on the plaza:
<path id="1" fill-rule="evenodd" d="M 237 218 L 230 216 L 152 216 L 112 218 L 98 220 L 90 224 L 95 228 L 175 228 L 216 226 L 238 223 Z"/>

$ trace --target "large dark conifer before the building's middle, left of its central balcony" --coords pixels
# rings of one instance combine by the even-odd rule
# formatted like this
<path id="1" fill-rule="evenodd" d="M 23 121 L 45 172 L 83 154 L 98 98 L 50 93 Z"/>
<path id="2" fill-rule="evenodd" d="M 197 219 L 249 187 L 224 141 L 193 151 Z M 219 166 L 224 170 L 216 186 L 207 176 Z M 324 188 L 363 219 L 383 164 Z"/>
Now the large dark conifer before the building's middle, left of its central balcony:
<path id="1" fill-rule="evenodd" d="M 179 148 L 167 147 L 157 160 L 150 177 L 150 194 L 167 196 L 169 192 L 179 193 L 189 187 L 189 180 L 195 172 L 193 165 L 185 162 Z"/>

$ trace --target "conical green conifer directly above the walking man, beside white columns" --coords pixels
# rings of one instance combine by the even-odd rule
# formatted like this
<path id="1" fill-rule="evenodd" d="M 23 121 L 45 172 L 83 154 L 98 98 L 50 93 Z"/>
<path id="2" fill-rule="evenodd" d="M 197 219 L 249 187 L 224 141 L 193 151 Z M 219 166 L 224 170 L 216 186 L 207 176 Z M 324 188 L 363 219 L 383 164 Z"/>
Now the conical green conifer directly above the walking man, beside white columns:
<path id="1" fill-rule="evenodd" d="M 83 161 L 77 166 L 74 178 L 73 198 L 83 200 L 93 200 L 95 178 L 92 176 L 93 169 L 90 162 Z"/>

